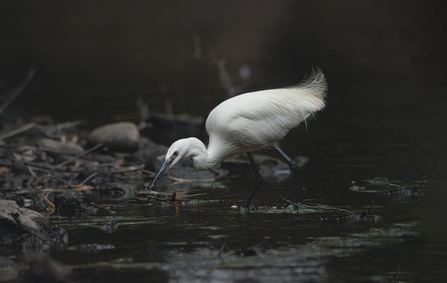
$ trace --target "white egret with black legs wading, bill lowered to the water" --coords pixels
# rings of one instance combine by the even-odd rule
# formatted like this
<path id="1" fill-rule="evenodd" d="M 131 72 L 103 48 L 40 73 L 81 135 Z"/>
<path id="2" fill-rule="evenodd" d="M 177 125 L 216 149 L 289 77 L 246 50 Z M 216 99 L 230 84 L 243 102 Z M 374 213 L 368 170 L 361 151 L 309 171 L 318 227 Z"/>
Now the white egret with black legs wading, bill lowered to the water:
<path id="1" fill-rule="evenodd" d="M 197 138 L 174 142 L 149 190 L 184 158 L 189 158 L 197 170 L 209 170 L 230 156 L 245 152 L 256 178 L 243 206 L 243 209 L 248 208 L 262 183 L 251 152 L 273 148 L 289 164 L 293 200 L 297 203 L 296 164 L 279 148 L 278 141 L 292 128 L 324 108 L 326 89 L 324 74 L 316 68 L 297 86 L 249 92 L 225 100 L 211 111 L 206 120 L 208 148 Z M 295 206 L 294 209 L 298 208 Z"/>

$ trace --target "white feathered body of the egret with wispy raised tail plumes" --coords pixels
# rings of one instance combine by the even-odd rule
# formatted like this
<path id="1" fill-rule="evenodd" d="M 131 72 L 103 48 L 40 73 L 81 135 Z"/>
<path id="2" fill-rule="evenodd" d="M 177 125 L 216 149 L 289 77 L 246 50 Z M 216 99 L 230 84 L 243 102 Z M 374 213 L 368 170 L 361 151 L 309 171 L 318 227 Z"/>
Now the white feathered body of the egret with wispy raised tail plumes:
<path id="1" fill-rule="evenodd" d="M 324 108 L 326 89 L 324 74 L 316 69 L 297 86 L 250 92 L 225 100 L 206 121 L 208 150 L 213 153 L 214 148 L 225 146 L 227 153 L 222 154 L 227 158 L 237 152 L 274 145 Z"/>

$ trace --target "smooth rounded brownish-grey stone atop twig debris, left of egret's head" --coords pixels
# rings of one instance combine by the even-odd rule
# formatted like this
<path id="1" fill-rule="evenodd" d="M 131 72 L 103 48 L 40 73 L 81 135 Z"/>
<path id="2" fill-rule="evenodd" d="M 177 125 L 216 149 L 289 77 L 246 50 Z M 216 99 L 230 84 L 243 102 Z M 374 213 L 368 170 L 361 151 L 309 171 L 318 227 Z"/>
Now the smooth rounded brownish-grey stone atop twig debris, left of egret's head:
<path id="1" fill-rule="evenodd" d="M 113 151 L 134 152 L 138 150 L 140 132 L 135 124 L 121 122 L 94 129 L 89 136 L 92 144 L 103 143 Z"/>

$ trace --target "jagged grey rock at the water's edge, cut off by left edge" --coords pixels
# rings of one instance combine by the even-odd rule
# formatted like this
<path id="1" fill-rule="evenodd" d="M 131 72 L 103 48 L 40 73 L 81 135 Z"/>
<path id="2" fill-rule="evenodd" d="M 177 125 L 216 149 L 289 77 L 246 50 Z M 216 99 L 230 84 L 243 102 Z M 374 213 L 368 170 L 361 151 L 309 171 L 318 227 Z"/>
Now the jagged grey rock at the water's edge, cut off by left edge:
<path id="1" fill-rule="evenodd" d="M 67 231 L 52 227 L 40 213 L 0 200 L 0 247 L 42 251 L 67 242 Z"/>

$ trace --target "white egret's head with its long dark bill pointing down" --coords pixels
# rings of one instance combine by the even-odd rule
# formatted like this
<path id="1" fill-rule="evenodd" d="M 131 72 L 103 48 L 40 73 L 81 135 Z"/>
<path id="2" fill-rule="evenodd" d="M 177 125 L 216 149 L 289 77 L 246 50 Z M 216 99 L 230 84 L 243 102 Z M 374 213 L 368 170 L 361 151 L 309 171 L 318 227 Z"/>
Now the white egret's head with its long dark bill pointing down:
<path id="1" fill-rule="evenodd" d="M 172 166 L 174 166 L 183 158 L 191 156 L 190 140 L 191 138 L 181 139 L 174 142 L 169 147 L 168 152 L 166 153 L 165 162 L 161 166 L 160 171 L 158 171 L 157 176 L 155 176 L 154 181 L 152 181 L 149 190 L 152 190 L 152 187 L 155 186 L 155 183 L 157 183 Z"/>

